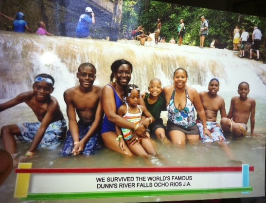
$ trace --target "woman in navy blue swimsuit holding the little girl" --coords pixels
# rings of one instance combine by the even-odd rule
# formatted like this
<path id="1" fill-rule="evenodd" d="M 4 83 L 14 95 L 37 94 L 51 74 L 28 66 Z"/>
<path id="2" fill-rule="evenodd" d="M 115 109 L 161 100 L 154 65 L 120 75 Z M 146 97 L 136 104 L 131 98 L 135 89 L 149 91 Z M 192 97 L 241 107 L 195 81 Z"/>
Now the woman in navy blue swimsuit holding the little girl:
<path id="1" fill-rule="evenodd" d="M 129 157 L 133 156 L 133 153 L 127 146 L 125 146 L 124 150 L 119 148 L 115 125 L 118 125 L 121 128 L 133 129 L 136 132 L 133 133 L 133 136 L 129 141 L 129 143 L 131 144 L 137 143 L 139 141 L 138 136 L 145 136 L 146 131 L 143 124 L 136 125 L 134 123 L 126 121 L 123 117 L 117 114 L 118 108 L 124 104 L 124 89 L 131 79 L 132 69 L 132 64 L 126 60 L 119 59 L 113 62 L 113 64 L 111 65 L 111 83 L 106 85 L 102 91 L 102 106 L 105 112 L 105 116 L 101 134 L 104 144 L 107 148 L 110 148 Z M 113 82 L 114 78 L 115 81 Z M 140 104 L 145 105 L 142 99 Z"/>

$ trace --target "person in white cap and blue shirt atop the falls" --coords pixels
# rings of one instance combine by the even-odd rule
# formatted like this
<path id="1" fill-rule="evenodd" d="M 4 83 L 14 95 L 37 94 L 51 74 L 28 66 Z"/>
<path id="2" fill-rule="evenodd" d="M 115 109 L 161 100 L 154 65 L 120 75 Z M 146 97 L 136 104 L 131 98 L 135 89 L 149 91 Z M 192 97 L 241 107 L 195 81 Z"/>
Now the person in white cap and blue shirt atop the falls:
<path id="1" fill-rule="evenodd" d="M 76 37 L 90 38 L 89 26 L 95 23 L 94 13 L 90 7 L 85 9 L 85 13 L 79 17 L 78 25 L 76 28 Z"/>

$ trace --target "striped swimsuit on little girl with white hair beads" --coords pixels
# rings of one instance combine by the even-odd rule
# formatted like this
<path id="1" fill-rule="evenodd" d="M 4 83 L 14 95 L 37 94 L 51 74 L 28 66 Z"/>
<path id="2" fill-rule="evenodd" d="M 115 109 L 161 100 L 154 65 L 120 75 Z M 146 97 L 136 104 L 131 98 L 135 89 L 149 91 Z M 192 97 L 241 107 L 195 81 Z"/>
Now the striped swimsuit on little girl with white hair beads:
<path id="1" fill-rule="evenodd" d="M 127 111 L 126 111 L 126 114 L 124 114 L 123 118 L 131 123 L 134 123 L 134 124 L 139 124 L 141 119 L 142 119 L 142 110 L 141 108 L 139 107 L 139 105 L 137 106 L 138 109 L 139 109 L 139 113 L 129 113 L 128 112 L 128 104 L 126 103 L 126 108 L 127 108 Z M 128 140 L 132 137 L 132 133 L 133 133 L 133 130 L 132 129 L 125 129 L 125 128 L 121 128 L 122 130 L 122 133 L 123 133 L 123 136 L 124 136 L 124 140 Z"/>

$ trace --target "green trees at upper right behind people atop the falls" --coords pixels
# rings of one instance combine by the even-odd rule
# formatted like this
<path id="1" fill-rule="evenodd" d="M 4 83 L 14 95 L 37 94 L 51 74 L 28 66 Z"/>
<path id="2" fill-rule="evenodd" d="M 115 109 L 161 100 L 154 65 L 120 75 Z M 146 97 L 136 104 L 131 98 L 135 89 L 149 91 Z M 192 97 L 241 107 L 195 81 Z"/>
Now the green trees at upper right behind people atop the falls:
<path id="1" fill-rule="evenodd" d="M 132 30 L 142 24 L 145 33 L 154 32 L 157 19 L 160 18 L 161 37 L 169 41 L 172 37 L 177 38 L 177 27 L 180 19 L 184 19 L 186 34 L 183 44 L 198 46 L 201 16 L 205 16 L 212 24 L 205 46 L 209 46 L 213 39 L 218 39 L 230 48 L 236 25 L 245 27 L 248 32 L 258 26 L 263 35 L 266 33 L 266 18 L 153 0 L 124 0 L 122 27 L 123 30 Z"/>

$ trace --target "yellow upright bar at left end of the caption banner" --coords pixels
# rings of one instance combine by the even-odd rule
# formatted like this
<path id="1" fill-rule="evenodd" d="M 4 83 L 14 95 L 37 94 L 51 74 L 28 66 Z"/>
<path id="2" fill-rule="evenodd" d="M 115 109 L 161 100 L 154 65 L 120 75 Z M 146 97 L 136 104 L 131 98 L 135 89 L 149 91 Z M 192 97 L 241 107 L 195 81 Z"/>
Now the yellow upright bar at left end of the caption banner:
<path id="1" fill-rule="evenodd" d="M 18 163 L 18 168 L 32 168 L 32 163 Z M 30 185 L 30 173 L 18 173 L 14 198 L 26 198 Z"/>

